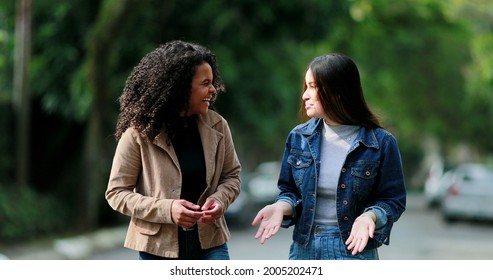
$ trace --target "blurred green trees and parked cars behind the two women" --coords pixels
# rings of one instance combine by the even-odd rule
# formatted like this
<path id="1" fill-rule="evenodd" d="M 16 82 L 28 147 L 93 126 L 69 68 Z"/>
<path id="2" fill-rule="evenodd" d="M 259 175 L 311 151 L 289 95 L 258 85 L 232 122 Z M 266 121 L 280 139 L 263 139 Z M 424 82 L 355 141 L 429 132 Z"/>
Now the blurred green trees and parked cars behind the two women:
<path id="1" fill-rule="evenodd" d="M 0 246 L 128 221 L 104 199 L 117 98 L 132 67 L 173 39 L 218 58 L 217 109 L 243 166 L 232 224 L 275 197 L 307 64 L 329 52 L 357 63 L 408 190 L 444 220 L 492 219 L 493 180 L 453 202 L 476 178 L 457 168 L 490 172 L 492 31 L 488 0 L 0 0 Z M 476 207 L 454 207 L 466 203 Z"/>

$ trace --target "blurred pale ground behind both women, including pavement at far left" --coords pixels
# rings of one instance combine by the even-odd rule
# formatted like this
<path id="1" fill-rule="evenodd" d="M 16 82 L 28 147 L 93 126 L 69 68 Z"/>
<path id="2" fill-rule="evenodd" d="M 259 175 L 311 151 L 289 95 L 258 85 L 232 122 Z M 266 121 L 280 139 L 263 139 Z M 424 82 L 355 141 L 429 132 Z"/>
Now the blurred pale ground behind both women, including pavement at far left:
<path id="1" fill-rule="evenodd" d="M 44 243 L 4 248 L 13 260 L 136 260 L 137 253 L 122 247 L 126 226 Z M 228 243 L 233 260 L 285 260 L 291 229 L 282 229 L 261 245 L 256 228 L 232 227 Z M 406 212 L 394 225 L 389 246 L 379 249 L 382 260 L 493 260 L 493 225 L 447 224 L 439 211 L 428 209 L 421 194 L 411 193 Z"/>

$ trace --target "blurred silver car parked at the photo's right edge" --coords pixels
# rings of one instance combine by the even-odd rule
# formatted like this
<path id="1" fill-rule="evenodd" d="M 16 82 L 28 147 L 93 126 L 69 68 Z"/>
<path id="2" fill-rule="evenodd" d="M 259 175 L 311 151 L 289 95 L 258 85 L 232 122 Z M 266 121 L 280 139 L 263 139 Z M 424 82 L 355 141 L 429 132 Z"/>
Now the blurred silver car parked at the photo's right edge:
<path id="1" fill-rule="evenodd" d="M 461 164 L 442 202 L 442 216 L 456 220 L 493 221 L 493 169 L 483 164 Z"/>

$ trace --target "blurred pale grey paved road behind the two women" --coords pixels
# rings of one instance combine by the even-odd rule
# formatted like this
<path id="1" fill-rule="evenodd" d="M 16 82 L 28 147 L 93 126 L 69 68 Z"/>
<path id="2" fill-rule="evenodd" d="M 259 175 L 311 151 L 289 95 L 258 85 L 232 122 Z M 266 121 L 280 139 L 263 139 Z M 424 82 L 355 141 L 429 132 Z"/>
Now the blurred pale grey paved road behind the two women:
<path id="1" fill-rule="evenodd" d="M 232 228 L 229 250 L 236 260 L 287 259 L 292 229 L 281 231 L 261 245 L 255 228 Z M 394 225 L 390 246 L 379 249 L 382 260 L 492 260 L 493 225 L 458 222 L 446 224 L 438 210 L 428 209 L 421 195 L 409 196 L 408 207 Z M 92 259 L 135 259 L 136 254 L 118 249 Z"/>

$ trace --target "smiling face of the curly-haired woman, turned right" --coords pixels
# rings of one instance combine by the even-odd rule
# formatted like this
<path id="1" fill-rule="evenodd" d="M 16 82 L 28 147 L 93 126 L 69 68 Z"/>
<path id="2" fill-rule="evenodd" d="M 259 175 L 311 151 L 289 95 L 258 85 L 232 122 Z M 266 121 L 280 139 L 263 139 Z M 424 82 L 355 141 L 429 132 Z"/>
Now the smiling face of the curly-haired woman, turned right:
<path id="1" fill-rule="evenodd" d="M 210 102 L 216 94 L 216 88 L 212 84 L 213 79 L 214 76 L 209 63 L 204 62 L 197 67 L 195 75 L 192 78 L 188 116 L 207 114 Z"/>

